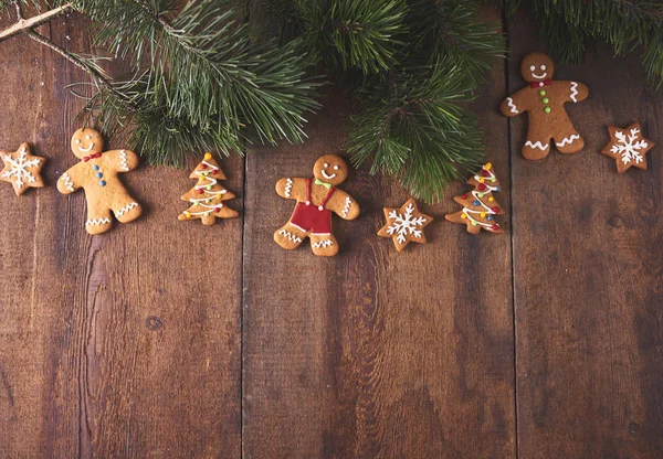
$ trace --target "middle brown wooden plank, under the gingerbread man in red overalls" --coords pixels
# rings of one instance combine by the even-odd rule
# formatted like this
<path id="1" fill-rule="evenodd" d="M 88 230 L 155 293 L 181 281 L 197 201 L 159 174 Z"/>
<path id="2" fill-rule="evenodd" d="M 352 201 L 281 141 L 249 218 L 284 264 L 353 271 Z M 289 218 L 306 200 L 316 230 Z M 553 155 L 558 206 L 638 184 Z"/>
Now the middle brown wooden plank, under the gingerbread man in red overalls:
<path id="1" fill-rule="evenodd" d="M 492 77 L 476 111 L 508 190 L 507 124 L 485 113 L 504 94 L 501 64 Z M 324 103 L 306 145 L 256 148 L 248 158 L 244 455 L 513 457 L 511 243 L 444 221 L 463 184 L 422 205 L 435 217 L 430 243 L 401 254 L 376 232 L 381 207 L 407 194 L 364 170 L 343 185 L 362 215 L 336 224 L 337 257 L 272 241 L 294 209 L 274 192 L 276 181 L 309 177 L 319 156 L 340 151 L 348 95 L 333 89 Z M 499 200 L 508 209 L 508 194 Z"/>

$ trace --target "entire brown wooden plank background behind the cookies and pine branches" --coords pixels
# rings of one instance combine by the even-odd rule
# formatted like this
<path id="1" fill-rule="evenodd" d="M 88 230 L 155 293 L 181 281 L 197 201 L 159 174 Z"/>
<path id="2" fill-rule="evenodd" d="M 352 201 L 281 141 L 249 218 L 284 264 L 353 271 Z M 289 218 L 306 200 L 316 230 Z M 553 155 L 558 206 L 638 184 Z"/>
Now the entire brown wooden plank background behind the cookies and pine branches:
<path id="1" fill-rule="evenodd" d="M 505 31 L 474 109 L 507 234 L 444 222 L 456 183 L 422 205 L 430 243 L 398 254 L 376 232 L 407 194 L 359 170 L 332 259 L 272 241 L 293 210 L 274 184 L 339 152 L 347 94 L 324 96 L 306 145 L 222 161 L 240 218 L 178 222 L 189 170 L 141 167 L 124 179 L 144 217 L 91 237 L 83 193 L 55 190 L 81 106 L 64 86 L 85 76 L 1 43 L 0 148 L 31 142 L 49 186 L 0 183 L 0 457 L 663 457 L 663 93 L 636 55 L 560 65 L 591 90 L 569 107 L 587 148 L 526 161 L 525 118 L 497 107 L 547 44 L 526 18 Z M 88 49 L 75 17 L 41 32 Z M 634 120 L 659 147 L 618 175 L 599 150 Z"/>

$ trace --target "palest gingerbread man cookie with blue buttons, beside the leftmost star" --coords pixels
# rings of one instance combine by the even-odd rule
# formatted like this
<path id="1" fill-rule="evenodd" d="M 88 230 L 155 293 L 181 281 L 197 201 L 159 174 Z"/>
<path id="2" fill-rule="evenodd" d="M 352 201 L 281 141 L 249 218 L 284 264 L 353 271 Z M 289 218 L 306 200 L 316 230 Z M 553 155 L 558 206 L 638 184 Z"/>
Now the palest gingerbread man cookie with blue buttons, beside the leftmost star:
<path id="1" fill-rule="evenodd" d="M 118 222 L 131 222 L 140 216 L 143 207 L 124 188 L 120 172 L 138 166 L 138 156 L 129 150 L 104 150 L 104 139 L 94 129 L 78 129 L 72 137 L 72 151 L 81 162 L 70 168 L 57 180 L 57 191 L 70 194 L 85 190 L 90 234 L 104 233 L 113 226 L 112 213 Z"/>

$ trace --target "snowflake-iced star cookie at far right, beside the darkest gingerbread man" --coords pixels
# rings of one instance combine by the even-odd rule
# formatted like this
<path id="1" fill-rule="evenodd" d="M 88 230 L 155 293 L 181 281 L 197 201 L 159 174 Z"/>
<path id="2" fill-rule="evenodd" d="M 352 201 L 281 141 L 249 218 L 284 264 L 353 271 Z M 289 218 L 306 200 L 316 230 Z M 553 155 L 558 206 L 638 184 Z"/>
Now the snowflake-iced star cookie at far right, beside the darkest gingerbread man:
<path id="1" fill-rule="evenodd" d="M 650 139 L 642 136 L 640 122 L 633 122 L 628 128 L 608 127 L 610 142 L 601 153 L 617 161 L 617 171 L 624 173 L 629 168 L 646 169 L 645 153 L 654 146 Z"/>

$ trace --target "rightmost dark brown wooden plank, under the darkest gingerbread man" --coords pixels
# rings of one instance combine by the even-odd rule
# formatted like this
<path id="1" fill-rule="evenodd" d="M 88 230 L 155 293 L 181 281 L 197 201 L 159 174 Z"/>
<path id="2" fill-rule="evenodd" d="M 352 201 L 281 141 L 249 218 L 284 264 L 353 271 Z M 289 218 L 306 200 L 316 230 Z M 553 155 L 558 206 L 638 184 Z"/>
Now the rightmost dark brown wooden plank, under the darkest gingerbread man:
<path id="1" fill-rule="evenodd" d="M 523 86 L 520 58 L 546 51 L 523 18 L 511 25 L 509 93 Z M 585 150 L 526 161 L 525 119 L 512 122 L 519 456 L 661 457 L 662 150 L 650 151 L 646 171 L 623 175 L 600 150 L 609 125 L 640 120 L 660 139 L 663 95 L 636 55 L 604 47 L 555 77 L 590 88 L 567 105 Z"/>

